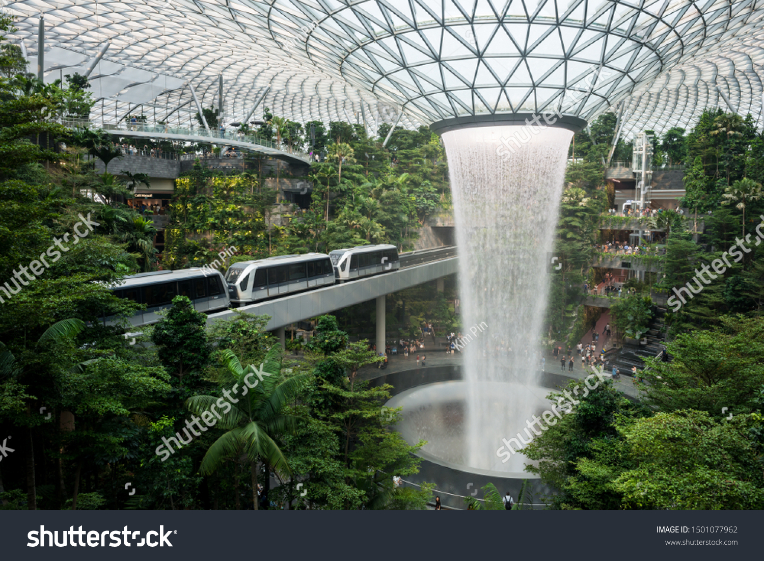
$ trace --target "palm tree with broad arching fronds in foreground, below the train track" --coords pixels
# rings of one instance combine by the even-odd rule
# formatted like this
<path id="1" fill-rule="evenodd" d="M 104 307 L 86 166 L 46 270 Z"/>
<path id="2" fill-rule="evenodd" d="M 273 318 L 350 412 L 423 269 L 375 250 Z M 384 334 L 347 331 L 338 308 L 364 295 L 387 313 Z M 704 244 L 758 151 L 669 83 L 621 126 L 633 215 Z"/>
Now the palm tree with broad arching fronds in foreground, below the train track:
<path id="1" fill-rule="evenodd" d="M 309 375 L 295 375 L 279 382 L 281 349 L 278 345 L 271 347 L 260 368 L 254 365 L 243 368 L 230 349 L 221 353 L 221 360 L 231 374 L 223 389 L 238 399 L 237 403 L 231 403 L 231 408 L 223 413 L 213 407 L 219 400 L 217 396 L 196 395 L 186 401 L 186 407 L 192 413 L 220 417 L 219 426 L 227 431 L 209 447 L 199 472 L 212 474 L 226 459 L 244 454 L 250 462 L 252 502 L 257 510 L 258 462 L 266 462 L 266 473 L 270 469 L 279 475 L 291 472 L 274 436 L 294 430 L 299 417 L 286 415 L 281 410 L 295 399 Z M 251 384 L 255 384 L 254 387 Z"/>

